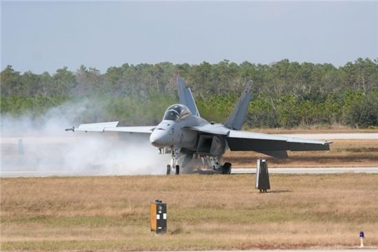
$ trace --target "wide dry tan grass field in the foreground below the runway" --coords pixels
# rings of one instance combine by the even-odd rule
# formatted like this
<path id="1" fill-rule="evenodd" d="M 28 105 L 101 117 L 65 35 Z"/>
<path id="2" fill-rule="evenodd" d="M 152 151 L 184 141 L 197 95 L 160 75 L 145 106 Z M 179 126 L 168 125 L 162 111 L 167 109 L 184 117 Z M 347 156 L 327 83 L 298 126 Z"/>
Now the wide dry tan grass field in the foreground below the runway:
<path id="1" fill-rule="evenodd" d="M 1 251 L 378 247 L 378 175 L 1 179 Z M 168 233 L 149 203 L 168 204 Z"/>

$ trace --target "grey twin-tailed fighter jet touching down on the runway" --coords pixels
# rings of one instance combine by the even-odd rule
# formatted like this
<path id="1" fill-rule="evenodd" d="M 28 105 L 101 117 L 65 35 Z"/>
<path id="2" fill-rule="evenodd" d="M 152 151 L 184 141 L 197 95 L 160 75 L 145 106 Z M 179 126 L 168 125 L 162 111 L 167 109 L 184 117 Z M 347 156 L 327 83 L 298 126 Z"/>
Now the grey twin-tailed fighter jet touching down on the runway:
<path id="1" fill-rule="evenodd" d="M 259 134 L 241 131 L 249 101 L 252 99 L 252 81 L 245 89 L 234 110 L 224 124 L 209 123 L 201 118 L 197 105 L 184 79 L 177 78 L 179 104 L 166 109 L 159 125 L 141 127 L 117 127 L 118 122 L 81 124 L 66 131 L 80 132 L 120 132 L 120 134 L 149 134 L 151 145 L 159 154 L 170 154 L 170 164 L 166 174 L 180 173 L 193 158 L 201 158 L 204 165 L 230 174 L 230 162 L 222 163 L 222 156 L 227 149 L 231 151 L 256 151 L 275 158 L 287 158 L 290 151 L 329 150 L 331 142 L 290 138 L 276 134 Z"/>

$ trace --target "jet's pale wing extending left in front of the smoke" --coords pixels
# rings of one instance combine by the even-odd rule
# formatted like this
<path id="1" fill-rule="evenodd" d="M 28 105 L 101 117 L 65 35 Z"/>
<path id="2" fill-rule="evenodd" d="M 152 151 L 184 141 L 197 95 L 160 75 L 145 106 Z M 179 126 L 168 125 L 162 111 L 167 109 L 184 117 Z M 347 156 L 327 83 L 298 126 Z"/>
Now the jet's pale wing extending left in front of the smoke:
<path id="1" fill-rule="evenodd" d="M 118 122 L 109 123 L 85 123 L 77 128 L 66 129 L 78 132 L 129 132 L 151 134 L 155 126 L 117 127 Z"/>

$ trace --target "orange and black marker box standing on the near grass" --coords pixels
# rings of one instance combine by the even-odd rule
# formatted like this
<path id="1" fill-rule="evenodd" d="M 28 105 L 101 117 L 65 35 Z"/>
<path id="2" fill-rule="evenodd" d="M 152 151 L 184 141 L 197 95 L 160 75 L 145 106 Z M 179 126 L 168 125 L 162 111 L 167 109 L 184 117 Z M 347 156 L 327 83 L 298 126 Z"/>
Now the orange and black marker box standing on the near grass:
<path id="1" fill-rule="evenodd" d="M 162 200 L 155 200 L 150 204 L 151 231 L 166 233 L 167 231 L 167 204 Z"/>

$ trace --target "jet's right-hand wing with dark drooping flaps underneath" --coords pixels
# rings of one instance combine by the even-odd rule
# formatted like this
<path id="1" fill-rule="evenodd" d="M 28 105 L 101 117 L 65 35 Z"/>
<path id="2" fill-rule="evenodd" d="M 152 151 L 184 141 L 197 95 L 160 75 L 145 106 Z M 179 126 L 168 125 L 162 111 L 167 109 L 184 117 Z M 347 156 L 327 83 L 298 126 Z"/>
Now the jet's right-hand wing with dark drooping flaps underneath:
<path id="1" fill-rule="evenodd" d="M 276 151 L 325 151 L 332 142 L 291 138 L 274 134 L 260 134 L 227 129 L 223 125 L 184 127 L 204 134 L 225 136 L 232 151 L 256 151 L 271 156 L 282 156 Z M 274 155 L 273 155 L 274 154 Z"/>

